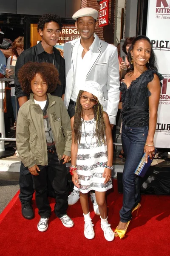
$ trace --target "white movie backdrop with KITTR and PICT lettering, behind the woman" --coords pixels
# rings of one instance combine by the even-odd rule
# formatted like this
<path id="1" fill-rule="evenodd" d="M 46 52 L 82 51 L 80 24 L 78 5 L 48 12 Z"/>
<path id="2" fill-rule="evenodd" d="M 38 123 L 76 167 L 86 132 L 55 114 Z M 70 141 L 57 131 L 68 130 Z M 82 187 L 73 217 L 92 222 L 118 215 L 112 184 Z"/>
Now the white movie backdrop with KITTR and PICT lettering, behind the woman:
<path id="1" fill-rule="evenodd" d="M 170 148 L 170 0 L 149 0 L 147 14 L 147 37 L 156 54 L 161 81 L 155 146 Z"/>

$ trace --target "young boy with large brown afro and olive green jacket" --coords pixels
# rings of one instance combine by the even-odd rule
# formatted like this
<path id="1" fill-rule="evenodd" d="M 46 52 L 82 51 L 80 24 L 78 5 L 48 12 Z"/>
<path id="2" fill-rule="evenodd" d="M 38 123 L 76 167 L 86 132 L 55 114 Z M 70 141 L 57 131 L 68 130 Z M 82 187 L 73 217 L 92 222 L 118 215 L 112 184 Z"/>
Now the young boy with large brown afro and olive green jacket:
<path id="1" fill-rule="evenodd" d="M 74 223 L 67 215 L 68 187 L 66 166 L 71 156 L 71 125 L 60 97 L 52 96 L 60 84 L 56 67 L 50 63 L 28 62 L 18 73 L 21 87 L 30 99 L 18 113 L 16 143 L 24 166 L 34 181 L 39 210 L 39 231 L 48 228 L 51 207 L 47 179 L 56 193 L 54 212 L 65 227 Z"/>

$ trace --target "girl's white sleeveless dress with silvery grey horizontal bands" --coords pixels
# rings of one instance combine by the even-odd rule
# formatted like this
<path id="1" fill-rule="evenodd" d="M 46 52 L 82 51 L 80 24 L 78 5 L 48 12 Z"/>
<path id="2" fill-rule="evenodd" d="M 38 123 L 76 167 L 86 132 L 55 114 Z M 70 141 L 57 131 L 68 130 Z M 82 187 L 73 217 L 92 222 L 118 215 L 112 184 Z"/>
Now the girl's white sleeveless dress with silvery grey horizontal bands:
<path id="1" fill-rule="evenodd" d="M 91 190 L 99 192 L 107 191 L 112 188 L 111 179 L 104 184 L 105 178 L 102 177 L 105 167 L 100 163 L 107 165 L 108 151 L 107 146 L 102 143 L 96 143 L 94 136 L 96 121 L 94 119 L 82 120 L 82 136 L 78 143 L 77 153 L 77 174 L 80 188 L 74 186 L 74 189 L 88 193 Z"/>

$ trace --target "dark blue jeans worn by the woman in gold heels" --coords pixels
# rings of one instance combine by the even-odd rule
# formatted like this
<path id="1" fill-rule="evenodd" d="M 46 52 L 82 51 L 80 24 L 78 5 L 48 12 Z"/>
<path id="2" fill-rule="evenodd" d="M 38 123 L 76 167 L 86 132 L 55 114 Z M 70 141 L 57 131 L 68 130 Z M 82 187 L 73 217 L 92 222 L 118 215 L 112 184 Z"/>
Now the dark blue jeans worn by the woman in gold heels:
<path id="1" fill-rule="evenodd" d="M 148 126 L 122 125 L 122 146 L 126 157 L 123 169 L 123 206 L 119 212 L 122 222 L 131 220 L 131 211 L 141 200 L 141 177 L 134 172 L 144 154 L 147 134 Z"/>

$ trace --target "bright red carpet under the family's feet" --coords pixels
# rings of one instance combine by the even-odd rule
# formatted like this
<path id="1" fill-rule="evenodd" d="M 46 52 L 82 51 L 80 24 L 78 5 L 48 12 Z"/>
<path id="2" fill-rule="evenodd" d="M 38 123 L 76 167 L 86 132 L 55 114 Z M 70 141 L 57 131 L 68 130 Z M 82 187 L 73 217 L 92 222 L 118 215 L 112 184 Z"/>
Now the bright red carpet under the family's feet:
<path id="1" fill-rule="evenodd" d="M 16 200 L 17 199 L 17 200 Z M 33 200 L 34 201 L 34 200 Z M 107 197 L 111 227 L 119 222 L 122 195 L 114 192 Z M 169 256 L 170 255 L 170 197 L 143 195 L 138 217 L 133 215 L 124 239 L 115 237 L 112 242 L 105 240 L 100 228 L 100 218 L 95 215 L 90 201 L 91 218 L 95 238 L 84 237 L 84 220 L 80 203 L 68 208 L 68 215 L 74 220 L 74 227 L 66 228 L 52 212 L 48 230 L 37 230 L 39 215 L 34 201 L 35 218 L 26 220 L 21 215 L 18 195 L 0 215 L 1 256 Z M 54 200 L 51 199 L 54 209 Z M 10 209 L 11 208 L 11 209 Z M 10 210 L 9 210 L 10 209 Z"/>

